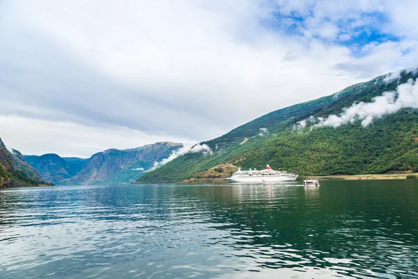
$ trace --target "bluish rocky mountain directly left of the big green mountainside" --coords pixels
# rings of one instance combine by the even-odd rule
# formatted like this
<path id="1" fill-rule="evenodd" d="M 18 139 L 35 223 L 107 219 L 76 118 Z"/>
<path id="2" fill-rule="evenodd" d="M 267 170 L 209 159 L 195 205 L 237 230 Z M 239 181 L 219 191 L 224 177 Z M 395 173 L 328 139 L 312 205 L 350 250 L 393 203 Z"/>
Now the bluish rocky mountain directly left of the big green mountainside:
<path id="1" fill-rule="evenodd" d="M 103 184 L 129 183 L 146 173 L 147 169 L 168 158 L 183 144 L 157 142 L 135 149 L 108 149 L 95 153 L 72 179 L 62 183 Z"/>

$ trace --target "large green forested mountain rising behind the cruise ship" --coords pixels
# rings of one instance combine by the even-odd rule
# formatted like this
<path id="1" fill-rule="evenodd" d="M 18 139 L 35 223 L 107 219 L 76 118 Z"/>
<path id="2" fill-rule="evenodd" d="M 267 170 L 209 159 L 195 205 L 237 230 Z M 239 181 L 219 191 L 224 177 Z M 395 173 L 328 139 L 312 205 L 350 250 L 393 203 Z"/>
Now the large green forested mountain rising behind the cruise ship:
<path id="1" fill-rule="evenodd" d="M 210 169 L 227 164 L 302 175 L 417 172 L 417 76 L 417 69 L 382 75 L 270 112 L 202 142 L 211 152 L 186 153 L 137 182 L 210 178 Z"/>

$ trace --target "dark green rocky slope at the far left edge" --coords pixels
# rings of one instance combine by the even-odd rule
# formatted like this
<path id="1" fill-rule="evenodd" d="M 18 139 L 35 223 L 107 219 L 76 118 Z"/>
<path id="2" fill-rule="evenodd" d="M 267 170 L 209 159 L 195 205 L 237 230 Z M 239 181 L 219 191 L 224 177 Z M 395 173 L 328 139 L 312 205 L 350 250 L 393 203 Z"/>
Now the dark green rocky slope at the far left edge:
<path id="1" fill-rule="evenodd" d="M 0 139 L 0 188 L 38 186 L 42 183 L 44 181 L 24 161 L 22 153 L 7 149 Z"/>

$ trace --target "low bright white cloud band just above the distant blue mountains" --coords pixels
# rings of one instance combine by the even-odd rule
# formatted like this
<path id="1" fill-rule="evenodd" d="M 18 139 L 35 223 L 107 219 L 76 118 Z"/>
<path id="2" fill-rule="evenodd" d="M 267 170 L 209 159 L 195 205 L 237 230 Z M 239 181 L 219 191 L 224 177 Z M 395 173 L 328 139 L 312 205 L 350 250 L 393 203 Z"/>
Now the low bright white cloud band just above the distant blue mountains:
<path id="1" fill-rule="evenodd" d="M 147 135 L 114 126 L 85 126 L 64 121 L 42 121 L 22 116 L 0 116 L 1 139 L 23 154 L 89 158 L 105 149 L 127 149 L 154 142 L 192 142 L 170 135 Z"/>

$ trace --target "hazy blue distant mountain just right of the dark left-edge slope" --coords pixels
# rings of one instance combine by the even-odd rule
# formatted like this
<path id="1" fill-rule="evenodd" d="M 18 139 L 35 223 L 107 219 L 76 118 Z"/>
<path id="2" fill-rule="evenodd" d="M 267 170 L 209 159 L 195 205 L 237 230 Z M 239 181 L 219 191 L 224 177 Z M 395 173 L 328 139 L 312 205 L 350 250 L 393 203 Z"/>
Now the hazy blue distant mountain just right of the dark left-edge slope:
<path id="1" fill-rule="evenodd" d="M 60 156 L 49 153 L 42 156 L 24 155 L 29 165 L 38 171 L 42 179 L 50 183 L 60 183 L 65 179 L 79 173 L 87 159 L 82 158 L 61 158 Z"/>

